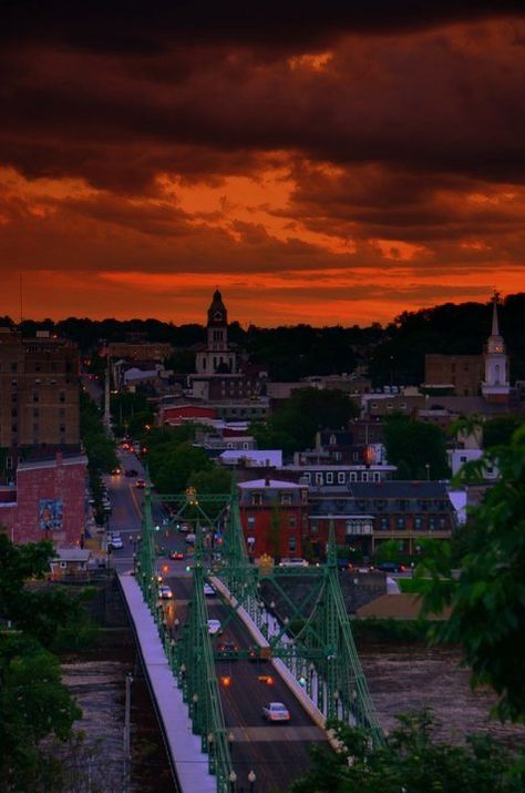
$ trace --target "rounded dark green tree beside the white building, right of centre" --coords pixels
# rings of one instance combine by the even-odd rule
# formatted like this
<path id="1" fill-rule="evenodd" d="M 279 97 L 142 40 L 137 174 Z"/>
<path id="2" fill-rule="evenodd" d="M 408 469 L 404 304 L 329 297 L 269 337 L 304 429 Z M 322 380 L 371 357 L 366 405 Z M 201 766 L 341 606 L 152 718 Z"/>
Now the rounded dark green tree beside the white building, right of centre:
<path id="1" fill-rule="evenodd" d="M 387 459 L 398 466 L 399 479 L 447 477 L 445 436 L 440 427 L 413 421 L 406 416 L 389 416 L 384 423 Z"/>

